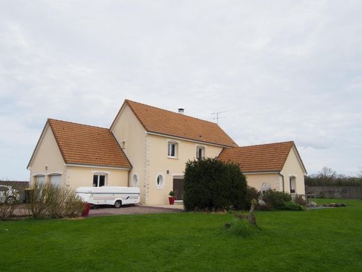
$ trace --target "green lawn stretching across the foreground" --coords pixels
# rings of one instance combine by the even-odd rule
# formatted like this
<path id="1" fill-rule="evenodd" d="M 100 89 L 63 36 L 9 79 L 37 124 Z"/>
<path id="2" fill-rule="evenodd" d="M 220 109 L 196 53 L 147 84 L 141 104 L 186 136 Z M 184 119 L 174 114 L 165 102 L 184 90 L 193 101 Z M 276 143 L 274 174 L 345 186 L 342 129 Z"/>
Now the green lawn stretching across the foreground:
<path id="1" fill-rule="evenodd" d="M 0 271 L 362 271 L 362 201 L 257 212 L 247 238 L 230 214 L 164 213 L 0 222 Z"/>

